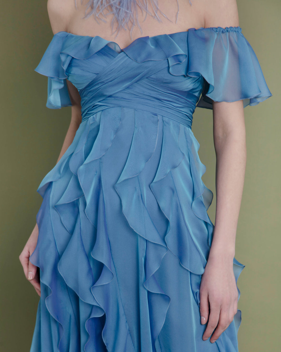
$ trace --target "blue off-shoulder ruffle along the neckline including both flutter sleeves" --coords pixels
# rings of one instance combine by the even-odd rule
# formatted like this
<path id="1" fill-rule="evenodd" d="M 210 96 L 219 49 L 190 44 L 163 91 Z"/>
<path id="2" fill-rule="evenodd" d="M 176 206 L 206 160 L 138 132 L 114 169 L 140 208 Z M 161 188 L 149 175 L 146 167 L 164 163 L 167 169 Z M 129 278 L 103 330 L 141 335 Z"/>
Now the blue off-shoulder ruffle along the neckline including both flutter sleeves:
<path id="1" fill-rule="evenodd" d="M 212 101 L 237 100 L 243 100 L 246 107 L 272 96 L 241 27 L 201 27 L 140 37 L 124 49 L 99 36 L 79 36 L 61 31 L 53 36 L 35 68 L 38 73 L 48 76 L 47 107 L 71 106 L 65 81 L 68 64 L 72 58 L 88 59 L 106 45 L 117 55 L 124 52 L 138 63 L 168 59 L 172 75 L 203 76 L 205 85 L 197 107 L 211 109 Z"/>

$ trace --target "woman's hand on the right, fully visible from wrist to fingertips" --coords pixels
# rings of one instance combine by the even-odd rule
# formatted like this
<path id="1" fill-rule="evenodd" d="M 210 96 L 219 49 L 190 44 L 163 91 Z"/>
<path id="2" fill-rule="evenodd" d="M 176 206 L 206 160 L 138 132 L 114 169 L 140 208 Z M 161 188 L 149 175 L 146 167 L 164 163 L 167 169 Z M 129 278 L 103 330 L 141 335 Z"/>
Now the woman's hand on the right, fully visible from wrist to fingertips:
<path id="1" fill-rule="evenodd" d="M 209 318 L 202 339 L 207 340 L 216 328 L 210 339 L 212 343 L 233 321 L 238 303 L 233 257 L 220 253 L 223 252 L 215 255 L 210 252 L 199 291 L 201 323 L 207 323 Z"/>

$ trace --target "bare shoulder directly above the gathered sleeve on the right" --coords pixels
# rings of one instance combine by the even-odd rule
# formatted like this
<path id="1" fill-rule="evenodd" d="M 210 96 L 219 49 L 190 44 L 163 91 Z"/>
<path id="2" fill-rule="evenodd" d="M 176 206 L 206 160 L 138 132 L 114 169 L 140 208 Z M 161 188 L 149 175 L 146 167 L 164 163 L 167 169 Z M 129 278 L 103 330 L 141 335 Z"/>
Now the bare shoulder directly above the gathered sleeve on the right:
<path id="1" fill-rule="evenodd" d="M 204 9 L 205 27 L 239 26 L 236 0 L 201 0 L 201 3 Z"/>

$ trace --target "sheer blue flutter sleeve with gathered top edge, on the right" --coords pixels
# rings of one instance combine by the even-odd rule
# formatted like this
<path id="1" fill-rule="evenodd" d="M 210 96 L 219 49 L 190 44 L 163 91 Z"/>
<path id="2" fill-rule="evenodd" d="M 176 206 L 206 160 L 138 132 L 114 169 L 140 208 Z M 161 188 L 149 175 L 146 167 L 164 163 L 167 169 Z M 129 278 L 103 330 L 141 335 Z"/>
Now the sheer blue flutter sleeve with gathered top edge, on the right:
<path id="1" fill-rule="evenodd" d="M 190 29 L 188 49 L 188 75 L 204 77 L 197 107 L 212 109 L 212 101 L 237 100 L 246 107 L 272 96 L 241 27 Z"/>

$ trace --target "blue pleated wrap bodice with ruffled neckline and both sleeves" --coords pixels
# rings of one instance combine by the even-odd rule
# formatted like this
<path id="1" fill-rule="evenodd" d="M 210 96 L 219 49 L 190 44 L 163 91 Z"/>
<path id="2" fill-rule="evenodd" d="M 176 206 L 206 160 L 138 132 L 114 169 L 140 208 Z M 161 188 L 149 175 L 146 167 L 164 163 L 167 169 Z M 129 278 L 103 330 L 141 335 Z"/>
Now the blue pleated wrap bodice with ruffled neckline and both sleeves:
<path id="1" fill-rule="evenodd" d="M 71 106 L 66 78 L 76 86 L 83 120 L 118 105 L 190 127 L 196 106 L 243 99 L 245 107 L 272 95 L 241 27 L 140 37 L 124 49 L 99 36 L 61 31 L 35 71 L 48 76 L 49 108 Z"/>

